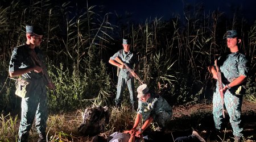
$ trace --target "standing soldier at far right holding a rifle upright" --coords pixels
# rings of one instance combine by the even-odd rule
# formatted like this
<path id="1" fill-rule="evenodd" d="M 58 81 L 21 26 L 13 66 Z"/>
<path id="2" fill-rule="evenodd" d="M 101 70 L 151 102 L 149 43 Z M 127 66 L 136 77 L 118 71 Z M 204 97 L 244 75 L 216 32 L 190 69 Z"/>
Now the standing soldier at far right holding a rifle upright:
<path id="1" fill-rule="evenodd" d="M 226 44 L 229 48 L 229 53 L 220 56 L 217 59 L 217 65 L 221 70 L 222 86 L 220 91 L 224 94 L 224 104 L 230 116 L 230 123 L 233 128 L 233 135 L 235 141 L 241 141 L 243 128 L 241 127 L 241 108 L 242 98 L 245 94 L 245 82 L 249 72 L 249 62 L 239 51 L 238 45 L 241 44 L 241 39 L 238 37 L 236 30 L 226 32 Z M 217 72 L 214 66 L 208 67 L 209 72 L 213 74 L 214 79 L 218 79 Z M 224 128 L 222 126 L 222 101 L 221 95 L 218 91 L 218 82 L 216 83 L 216 90 L 213 94 L 213 119 L 215 128 L 220 131 Z"/>

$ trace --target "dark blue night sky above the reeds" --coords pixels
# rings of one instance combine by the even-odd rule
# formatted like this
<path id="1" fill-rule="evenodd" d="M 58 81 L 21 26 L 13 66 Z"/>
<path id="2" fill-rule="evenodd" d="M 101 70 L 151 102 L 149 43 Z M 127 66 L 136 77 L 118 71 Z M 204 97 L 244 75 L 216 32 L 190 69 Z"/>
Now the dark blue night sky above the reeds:
<path id="1" fill-rule="evenodd" d="M 239 10 L 239 13 L 250 22 L 254 22 L 256 19 L 255 0 L 89 0 L 89 5 L 102 6 L 108 12 L 117 12 L 119 15 L 125 15 L 126 12 L 129 12 L 138 22 L 144 22 L 146 19 L 154 19 L 155 17 L 163 17 L 163 19 L 168 20 L 176 17 L 177 14 L 183 15 L 186 4 L 192 6 L 202 4 L 205 14 L 219 10 L 233 18 L 234 11 Z"/>

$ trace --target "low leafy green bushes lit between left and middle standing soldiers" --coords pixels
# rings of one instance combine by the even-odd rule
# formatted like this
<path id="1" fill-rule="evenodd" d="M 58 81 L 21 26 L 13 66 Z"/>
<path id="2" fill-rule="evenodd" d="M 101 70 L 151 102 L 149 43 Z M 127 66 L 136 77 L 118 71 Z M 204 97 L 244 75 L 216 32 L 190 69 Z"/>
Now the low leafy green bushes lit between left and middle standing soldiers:
<path id="1" fill-rule="evenodd" d="M 112 87 L 108 74 L 106 74 L 105 64 L 101 62 L 101 65 L 95 69 L 97 72 L 92 78 L 92 76 L 88 77 L 86 73 L 79 74 L 76 69 L 71 74 L 68 69 L 63 69 L 63 64 L 60 64 L 59 68 L 56 66 L 49 68 L 49 74 L 51 74 L 56 86 L 56 94 L 51 91 L 48 92 L 51 94 L 49 95 L 51 110 L 70 111 L 88 107 L 91 103 L 96 106 L 110 105 L 112 94 L 109 92 Z M 52 73 L 52 70 L 56 73 Z M 97 74 L 98 70 L 101 70 L 100 74 Z"/>

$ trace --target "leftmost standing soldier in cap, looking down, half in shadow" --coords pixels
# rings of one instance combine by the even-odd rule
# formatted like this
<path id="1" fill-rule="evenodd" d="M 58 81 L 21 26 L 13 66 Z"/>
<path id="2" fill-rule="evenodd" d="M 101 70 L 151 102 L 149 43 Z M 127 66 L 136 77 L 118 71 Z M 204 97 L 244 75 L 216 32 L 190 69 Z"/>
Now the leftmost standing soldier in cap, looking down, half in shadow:
<path id="1" fill-rule="evenodd" d="M 42 51 L 38 48 L 42 42 L 43 30 L 39 26 L 26 26 L 26 37 L 25 44 L 13 49 L 9 65 L 10 77 L 21 76 L 16 82 L 18 87 L 16 86 L 17 93 L 15 92 L 22 96 L 19 141 L 28 141 L 34 118 L 39 141 L 46 141 L 47 84 L 43 80 L 42 68 L 35 65 L 29 53 L 34 50 L 39 59 L 43 61 Z M 53 84 L 48 84 L 48 87 L 52 88 Z"/>

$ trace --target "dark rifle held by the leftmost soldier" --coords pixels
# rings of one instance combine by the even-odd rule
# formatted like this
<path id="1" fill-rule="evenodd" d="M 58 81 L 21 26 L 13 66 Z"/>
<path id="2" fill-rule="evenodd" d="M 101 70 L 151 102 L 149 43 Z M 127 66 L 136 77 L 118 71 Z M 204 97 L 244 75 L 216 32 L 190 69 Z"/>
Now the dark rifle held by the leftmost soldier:
<path id="1" fill-rule="evenodd" d="M 38 55 L 36 55 L 34 49 L 30 49 L 30 51 L 28 53 L 30 54 L 31 59 L 34 62 L 34 64 L 38 65 L 42 68 L 42 73 L 43 73 L 44 79 L 47 81 L 48 84 L 52 85 L 52 88 L 50 88 L 50 89 L 52 89 L 53 93 L 56 94 L 56 87 L 52 83 L 52 79 L 51 79 L 51 77 L 49 77 L 49 74 L 47 73 L 46 65 L 44 65 L 43 62 L 40 61 L 40 59 L 39 59 Z"/>

